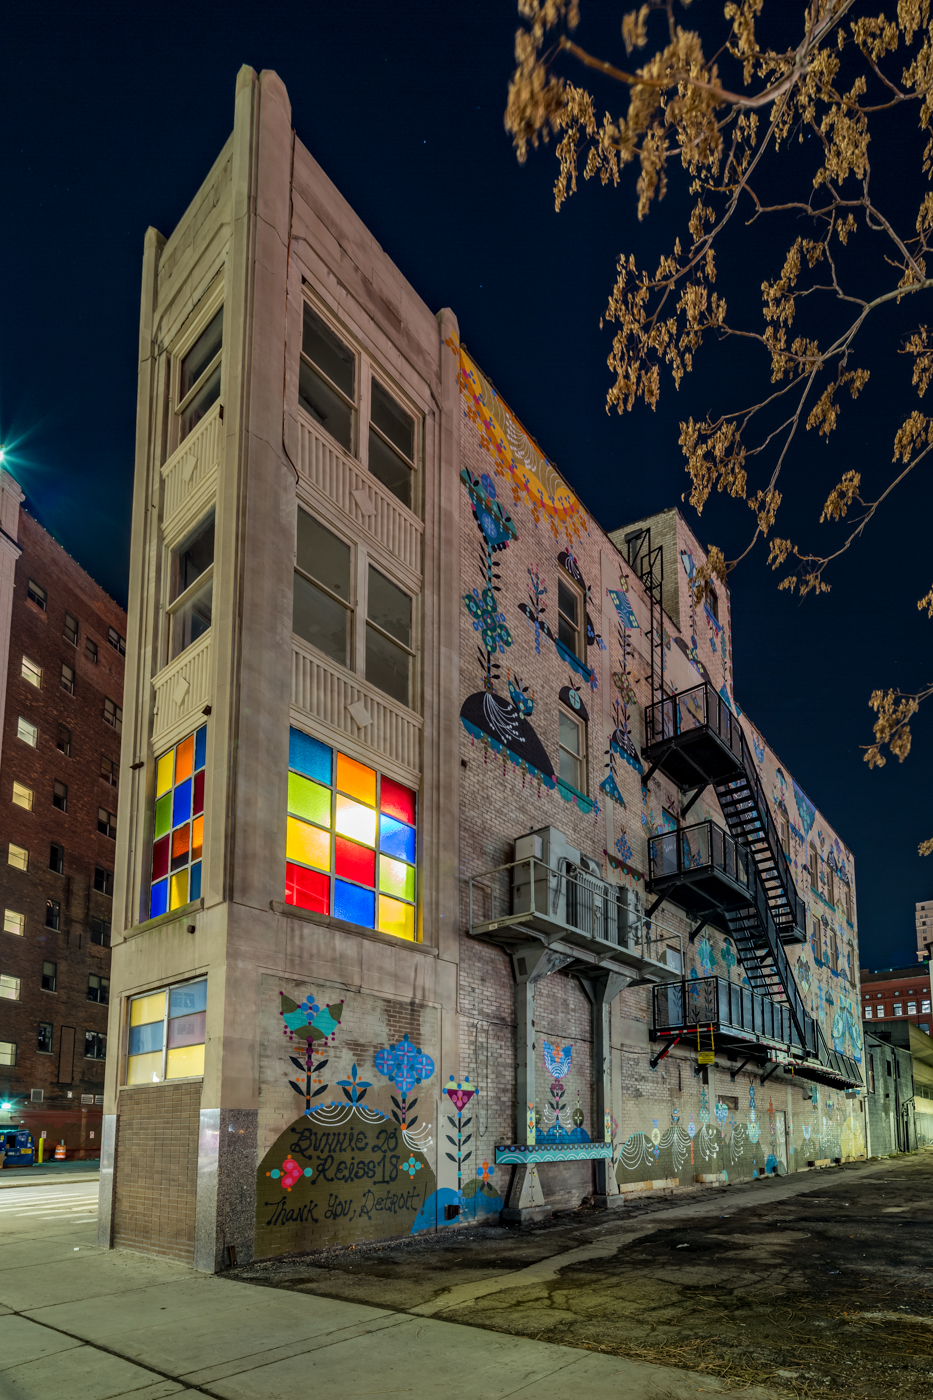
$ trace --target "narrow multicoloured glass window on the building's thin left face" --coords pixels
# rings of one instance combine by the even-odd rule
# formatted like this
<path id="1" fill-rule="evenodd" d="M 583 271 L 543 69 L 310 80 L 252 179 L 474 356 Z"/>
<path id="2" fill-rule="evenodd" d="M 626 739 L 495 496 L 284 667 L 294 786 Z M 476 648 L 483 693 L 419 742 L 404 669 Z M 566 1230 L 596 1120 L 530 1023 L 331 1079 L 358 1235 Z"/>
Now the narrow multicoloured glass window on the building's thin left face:
<path id="1" fill-rule="evenodd" d="M 207 725 L 202 725 L 156 764 L 150 918 L 200 899 L 206 757 Z"/>

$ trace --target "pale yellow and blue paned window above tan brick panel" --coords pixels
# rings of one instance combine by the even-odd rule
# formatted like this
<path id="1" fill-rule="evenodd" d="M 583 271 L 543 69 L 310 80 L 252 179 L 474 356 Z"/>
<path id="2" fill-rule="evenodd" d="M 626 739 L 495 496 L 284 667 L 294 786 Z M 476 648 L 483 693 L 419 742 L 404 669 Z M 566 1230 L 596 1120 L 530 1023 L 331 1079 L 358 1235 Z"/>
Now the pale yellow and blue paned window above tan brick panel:
<path id="1" fill-rule="evenodd" d="M 126 1084 L 192 1079 L 205 1072 L 207 981 L 130 1000 Z"/>

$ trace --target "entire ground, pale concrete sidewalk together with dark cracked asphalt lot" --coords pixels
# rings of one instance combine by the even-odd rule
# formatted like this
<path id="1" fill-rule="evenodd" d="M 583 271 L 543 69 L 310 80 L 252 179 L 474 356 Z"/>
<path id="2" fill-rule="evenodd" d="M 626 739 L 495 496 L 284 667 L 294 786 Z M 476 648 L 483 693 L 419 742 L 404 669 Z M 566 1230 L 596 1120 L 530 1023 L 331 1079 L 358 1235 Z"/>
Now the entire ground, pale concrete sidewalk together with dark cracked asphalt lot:
<path id="1" fill-rule="evenodd" d="M 219 1277 L 63 1189 L 0 1193 L 3 1400 L 933 1393 L 933 1151 Z"/>

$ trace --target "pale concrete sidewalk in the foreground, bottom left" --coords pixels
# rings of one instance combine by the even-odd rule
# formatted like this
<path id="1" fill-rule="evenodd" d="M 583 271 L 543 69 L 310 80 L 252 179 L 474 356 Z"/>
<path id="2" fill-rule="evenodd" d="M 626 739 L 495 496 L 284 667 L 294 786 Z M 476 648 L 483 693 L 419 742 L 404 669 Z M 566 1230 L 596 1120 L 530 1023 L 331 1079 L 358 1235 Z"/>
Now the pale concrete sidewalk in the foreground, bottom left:
<path id="1" fill-rule="evenodd" d="M 70 1226 L 0 1240 L 4 1400 L 293 1400 L 311 1387 L 340 1400 L 532 1400 L 542 1392 L 548 1400 L 693 1400 L 723 1390 L 686 1371 L 196 1274 L 97 1249 L 92 1238 Z"/>

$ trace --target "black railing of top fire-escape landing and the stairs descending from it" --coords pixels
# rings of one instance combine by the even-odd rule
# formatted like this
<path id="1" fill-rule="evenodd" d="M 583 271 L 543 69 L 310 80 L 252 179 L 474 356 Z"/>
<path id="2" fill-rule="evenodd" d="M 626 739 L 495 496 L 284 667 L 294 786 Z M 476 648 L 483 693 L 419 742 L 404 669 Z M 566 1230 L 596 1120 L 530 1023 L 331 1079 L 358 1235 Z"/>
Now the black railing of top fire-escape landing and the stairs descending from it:
<path id="1" fill-rule="evenodd" d="M 717 735 L 730 753 L 735 756 L 751 788 L 762 836 L 765 836 L 770 848 L 770 855 L 787 900 L 786 913 L 780 910 L 775 911 L 778 927 L 806 931 L 806 906 L 797 893 L 790 862 L 780 844 L 778 827 L 770 815 L 770 806 L 758 777 L 758 769 L 748 748 L 748 741 L 741 724 L 723 697 L 712 686 L 706 685 L 706 682 L 700 682 L 700 685 L 692 686 L 689 690 L 681 690 L 674 696 L 656 700 L 644 711 L 644 739 L 647 748 L 653 743 L 664 743 L 682 738 L 699 729 L 712 729 Z"/>

